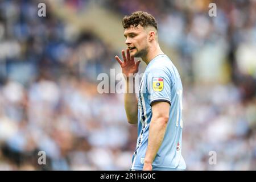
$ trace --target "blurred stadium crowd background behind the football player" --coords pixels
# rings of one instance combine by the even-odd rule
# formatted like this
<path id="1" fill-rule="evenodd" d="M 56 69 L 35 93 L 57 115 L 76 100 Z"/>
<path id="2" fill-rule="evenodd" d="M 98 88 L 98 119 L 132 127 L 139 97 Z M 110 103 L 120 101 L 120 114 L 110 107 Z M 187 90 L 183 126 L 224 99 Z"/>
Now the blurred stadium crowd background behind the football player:
<path id="1" fill-rule="evenodd" d="M 120 72 L 121 20 L 135 10 L 158 20 L 160 46 L 183 81 L 187 168 L 256 169 L 256 1 L 3 0 L 1 170 L 130 167 L 137 128 L 126 121 L 123 94 L 98 94 L 97 75 Z"/>

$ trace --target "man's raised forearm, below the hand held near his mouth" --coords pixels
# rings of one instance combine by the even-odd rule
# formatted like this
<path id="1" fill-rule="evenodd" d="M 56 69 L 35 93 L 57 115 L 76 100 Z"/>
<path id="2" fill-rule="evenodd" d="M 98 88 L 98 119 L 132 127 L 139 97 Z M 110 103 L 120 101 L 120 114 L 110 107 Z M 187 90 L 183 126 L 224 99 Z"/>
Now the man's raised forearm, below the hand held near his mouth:
<path id="1" fill-rule="evenodd" d="M 129 78 L 127 78 L 126 80 L 125 111 L 128 122 L 136 124 L 138 122 L 138 100 L 134 93 L 134 78 L 132 79 L 133 80 L 129 80 Z M 131 93 L 129 93 L 129 89 L 132 91 Z"/>

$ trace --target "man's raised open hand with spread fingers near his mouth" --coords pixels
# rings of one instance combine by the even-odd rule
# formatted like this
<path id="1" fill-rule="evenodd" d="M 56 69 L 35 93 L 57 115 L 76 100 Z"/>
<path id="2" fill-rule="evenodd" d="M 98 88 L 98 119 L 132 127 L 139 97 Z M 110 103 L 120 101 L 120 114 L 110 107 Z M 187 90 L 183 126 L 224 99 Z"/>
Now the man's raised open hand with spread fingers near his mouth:
<path id="1" fill-rule="evenodd" d="M 139 71 L 139 63 L 141 63 L 141 60 L 137 61 L 135 63 L 134 57 L 130 56 L 130 50 L 126 49 L 126 55 L 125 51 L 122 50 L 122 56 L 123 61 L 119 59 L 118 56 L 115 56 L 115 59 L 118 61 L 118 63 L 121 65 L 122 72 L 126 77 L 133 76 L 135 73 L 138 73 Z M 130 75 L 129 75 L 130 73 Z"/>

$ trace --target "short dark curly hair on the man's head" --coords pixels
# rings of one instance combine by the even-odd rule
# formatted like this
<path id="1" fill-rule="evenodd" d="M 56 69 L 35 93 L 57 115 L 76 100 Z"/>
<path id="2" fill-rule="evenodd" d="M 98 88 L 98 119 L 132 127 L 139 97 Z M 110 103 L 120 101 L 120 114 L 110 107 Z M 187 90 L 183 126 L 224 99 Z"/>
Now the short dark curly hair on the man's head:
<path id="1" fill-rule="evenodd" d="M 137 27 L 139 24 L 142 27 L 152 26 L 158 30 L 158 24 L 151 14 L 144 11 L 136 11 L 130 16 L 123 17 L 122 20 L 123 28 L 129 28 L 131 25 Z"/>

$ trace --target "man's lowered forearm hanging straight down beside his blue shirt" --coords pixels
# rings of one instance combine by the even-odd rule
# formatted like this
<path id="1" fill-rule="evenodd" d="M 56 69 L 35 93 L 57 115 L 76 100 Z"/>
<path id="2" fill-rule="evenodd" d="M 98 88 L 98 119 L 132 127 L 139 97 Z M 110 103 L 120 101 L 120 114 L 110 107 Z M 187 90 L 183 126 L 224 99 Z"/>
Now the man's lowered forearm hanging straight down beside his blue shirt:
<path id="1" fill-rule="evenodd" d="M 168 118 L 152 118 L 144 164 L 152 164 L 166 133 Z"/>

